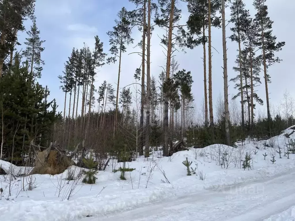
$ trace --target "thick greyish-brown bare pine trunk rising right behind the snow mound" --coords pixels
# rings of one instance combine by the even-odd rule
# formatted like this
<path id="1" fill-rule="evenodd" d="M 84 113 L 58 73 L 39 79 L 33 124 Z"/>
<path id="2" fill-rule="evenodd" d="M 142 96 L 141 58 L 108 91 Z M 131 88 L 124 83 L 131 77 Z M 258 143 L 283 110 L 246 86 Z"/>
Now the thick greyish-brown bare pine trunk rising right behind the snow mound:
<path id="1" fill-rule="evenodd" d="M 221 0 L 222 9 L 222 46 L 223 46 L 223 79 L 224 79 L 224 114 L 226 143 L 230 145 L 230 111 L 228 109 L 228 82 L 227 82 L 227 48 L 225 36 L 225 2 Z"/>

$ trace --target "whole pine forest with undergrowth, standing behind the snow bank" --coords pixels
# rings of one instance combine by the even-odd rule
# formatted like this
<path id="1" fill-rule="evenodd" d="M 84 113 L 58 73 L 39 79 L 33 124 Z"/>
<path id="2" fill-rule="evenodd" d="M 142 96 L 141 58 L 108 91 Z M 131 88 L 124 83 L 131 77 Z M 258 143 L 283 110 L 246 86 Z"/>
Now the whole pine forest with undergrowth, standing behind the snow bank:
<path id="1" fill-rule="evenodd" d="M 45 65 L 41 58 L 45 40 L 39 37 L 35 0 L 0 2 L 0 159 L 22 164 L 38 145 L 53 142 L 73 150 L 82 141 L 82 153 L 94 151 L 99 162 L 126 149 L 148 157 L 154 146 L 162 146 L 163 156 L 170 156 L 171 145 L 179 139 L 196 148 L 214 143 L 233 145 L 246 136 L 274 136 L 293 124 L 294 100 L 287 91 L 277 110 L 269 103 L 268 69 L 281 62 L 276 52 L 285 42 L 278 42 L 272 32 L 266 0 L 185 0 L 189 17 L 183 24 L 178 8 L 181 0 L 129 1 L 134 9 L 122 7 L 114 18 L 114 27 L 106 33 L 109 46 L 96 35 L 94 45 L 73 48 L 65 61 L 58 76 L 64 92 L 61 112 L 55 99 L 48 100 L 49 88 L 38 83 Z M 256 14 L 251 15 L 245 4 L 253 4 Z M 230 7 L 230 32 L 226 30 L 226 6 Z M 27 30 L 26 49 L 18 51 L 17 33 L 26 30 L 26 19 L 32 20 L 32 26 Z M 161 36 L 165 65 L 158 76 L 151 75 L 150 68 L 155 27 L 166 30 Z M 212 99 L 213 28 L 222 29 L 223 42 L 224 91 L 216 105 Z M 132 38 L 137 32 L 142 36 L 140 42 Z M 227 67 L 227 37 L 237 43 L 235 67 Z M 121 88 L 121 58 L 127 56 L 129 45 L 140 48 L 142 60 L 134 70 L 137 83 Z M 191 92 L 193 79 L 200 76 L 180 68 L 175 57 L 181 49 L 195 47 L 203 48 L 202 95 Z M 117 75 L 117 83 L 100 79 L 102 83 L 95 87 L 97 72 L 104 65 L 117 66 L 117 73 L 111 73 Z M 237 76 L 228 79 L 228 68 L 233 68 Z M 233 101 L 228 96 L 230 81 L 237 89 Z M 265 90 L 263 98 L 257 94 L 259 85 L 264 86 L 259 87 Z M 194 96 L 204 98 L 198 121 Z M 266 116 L 255 116 L 257 105 L 264 104 Z"/>

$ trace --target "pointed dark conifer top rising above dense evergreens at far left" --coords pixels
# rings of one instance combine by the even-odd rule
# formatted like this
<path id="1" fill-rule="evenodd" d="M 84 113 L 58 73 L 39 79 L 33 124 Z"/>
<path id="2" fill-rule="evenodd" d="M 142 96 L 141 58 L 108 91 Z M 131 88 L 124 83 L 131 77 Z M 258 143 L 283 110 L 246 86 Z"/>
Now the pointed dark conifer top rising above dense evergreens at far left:
<path id="1" fill-rule="evenodd" d="M 42 65 L 45 65 L 44 61 L 41 59 L 41 52 L 45 49 L 42 47 L 42 44 L 45 41 L 40 39 L 39 34 L 40 30 L 38 30 L 36 19 L 34 18 L 31 30 L 27 32 L 29 37 L 27 37 L 26 42 L 24 42 L 24 44 L 27 45 L 27 48 L 22 53 L 22 55 L 29 61 L 31 80 L 41 77 L 41 72 L 43 70 Z"/>

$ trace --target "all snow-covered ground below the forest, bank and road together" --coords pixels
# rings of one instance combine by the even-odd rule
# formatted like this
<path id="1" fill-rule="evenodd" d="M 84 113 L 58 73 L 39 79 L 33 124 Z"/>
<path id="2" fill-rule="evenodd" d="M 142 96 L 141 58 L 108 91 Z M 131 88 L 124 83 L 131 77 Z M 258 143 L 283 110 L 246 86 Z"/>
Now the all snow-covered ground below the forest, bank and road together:
<path id="1" fill-rule="evenodd" d="M 282 134 L 292 131 L 287 129 Z M 291 138 L 295 139 L 295 134 L 292 134 Z M 98 220 L 101 216 L 107 218 L 109 214 L 135 211 L 145 206 L 148 206 L 150 213 L 153 214 L 154 207 L 151 208 L 151 205 L 161 201 L 172 203 L 170 207 L 168 205 L 167 213 L 187 210 L 187 219 L 180 217 L 177 220 L 206 220 L 200 214 L 210 214 L 211 216 L 208 217 L 215 216 L 220 217 L 218 220 L 226 220 L 234 217 L 232 215 L 242 216 L 247 211 L 255 212 L 254 209 L 257 210 L 259 205 L 277 208 L 273 210 L 275 213 L 264 213 L 261 217 L 263 219 L 268 218 L 267 215 L 273 215 L 267 220 L 294 220 L 295 209 L 292 206 L 295 205 L 295 195 L 293 195 L 295 192 L 290 191 L 295 189 L 293 188 L 295 180 L 292 179 L 295 176 L 295 154 L 290 154 L 290 159 L 284 156 L 287 151 L 286 143 L 291 138 L 279 135 L 266 141 L 247 140 L 243 145 L 239 144 L 237 148 L 215 144 L 203 149 L 181 151 L 164 158 L 160 151 L 153 151 L 148 159 L 140 157 L 128 163 L 130 168 L 136 168 L 136 170 L 127 173 L 125 181 L 119 180 L 119 172 L 112 172 L 114 167 L 120 166 L 120 163 L 110 161 L 106 171 L 99 171 L 96 184 L 83 184 L 81 180 L 69 182 L 63 180 L 67 177 L 67 171 L 65 171 L 55 176 L 34 175 L 32 178 L 36 179 L 33 185 L 35 188 L 29 191 L 27 179 L 16 177 L 16 180 L 12 180 L 9 196 L 9 176 L 0 176 L 0 188 L 3 189 L 0 200 L 0 220 L 19 220 L 20 217 L 22 220 Z M 278 147 L 281 148 L 281 159 L 277 153 Z M 244 170 L 241 167 L 246 152 L 251 154 L 251 169 Z M 265 159 L 263 154 L 267 154 Z M 272 155 L 276 160 L 274 164 L 271 161 Z M 192 161 L 191 167 L 196 168 L 196 174 L 186 176 L 186 168 L 182 164 L 186 157 Z M 220 164 L 225 164 L 225 168 Z M 4 161 L 0 161 L 0 165 L 6 171 L 13 170 L 14 174 L 21 174 L 25 169 Z M 72 166 L 71 169 L 78 173 L 81 168 Z M 198 171 L 206 174 L 204 180 L 199 178 Z M 235 204 L 228 203 L 231 202 L 226 199 L 229 186 L 240 188 L 246 184 L 244 187 L 249 189 L 254 188 L 259 182 L 263 184 L 262 187 L 269 189 L 268 192 L 261 193 L 260 190 L 260 192 L 256 190 L 253 196 L 249 196 L 248 193 L 239 193 L 235 197 L 241 198 L 235 199 Z M 273 186 L 272 182 L 275 182 Z M 23 183 L 25 191 L 22 191 Z M 266 196 L 263 197 L 263 195 Z M 285 199 L 285 196 L 291 199 Z M 206 201 L 207 198 L 208 201 Z M 264 204 L 259 204 L 263 199 Z M 278 207 L 275 204 L 277 200 L 282 200 L 284 206 Z M 294 204 L 290 203 L 290 200 Z M 178 201 L 182 204 L 177 203 L 173 207 L 173 202 Z M 271 202 L 274 204 L 267 204 Z M 250 207 L 252 203 L 253 206 Z M 215 207 L 210 207 L 212 204 Z M 192 213 L 196 210 L 194 206 L 199 208 L 197 211 L 200 216 Z M 233 212 L 227 211 L 228 208 Z M 276 213 L 280 214 L 275 215 Z M 190 217 L 188 217 L 189 214 L 191 214 Z M 92 217 L 85 218 L 87 215 Z M 162 220 L 171 220 L 168 217 Z M 142 220 L 145 220 L 144 218 Z M 140 217 L 137 220 L 141 220 Z M 154 217 L 154 220 L 161 219 Z M 214 218 L 207 220 L 214 220 Z M 236 220 L 242 220 L 242 217 Z"/>

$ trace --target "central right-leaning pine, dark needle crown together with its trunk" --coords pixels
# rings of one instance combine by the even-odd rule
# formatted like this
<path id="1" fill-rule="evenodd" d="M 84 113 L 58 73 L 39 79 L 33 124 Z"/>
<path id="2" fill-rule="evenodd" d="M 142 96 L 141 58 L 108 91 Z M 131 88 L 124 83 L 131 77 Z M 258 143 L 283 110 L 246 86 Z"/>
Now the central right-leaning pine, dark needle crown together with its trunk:
<path id="1" fill-rule="evenodd" d="M 166 55 L 166 68 L 165 68 L 165 82 L 168 83 L 170 78 L 170 68 L 171 68 L 171 57 L 173 52 L 175 52 L 176 44 L 182 46 L 183 38 L 185 37 L 185 31 L 182 25 L 178 22 L 181 18 L 181 9 L 176 7 L 178 0 L 159 0 L 159 5 L 161 8 L 161 14 L 155 19 L 155 23 L 162 28 L 165 28 L 167 33 L 163 35 L 161 43 L 167 47 Z M 177 35 L 174 35 L 177 31 Z M 164 119 L 163 119 L 163 133 L 164 133 L 164 145 L 163 145 L 163 156 L 168 156 L 168 144 L 171 138 L 169 138 L 169 121 L 168 121 L 168 106 L 169 97 L 168 90 L 164 92 Z"/>

